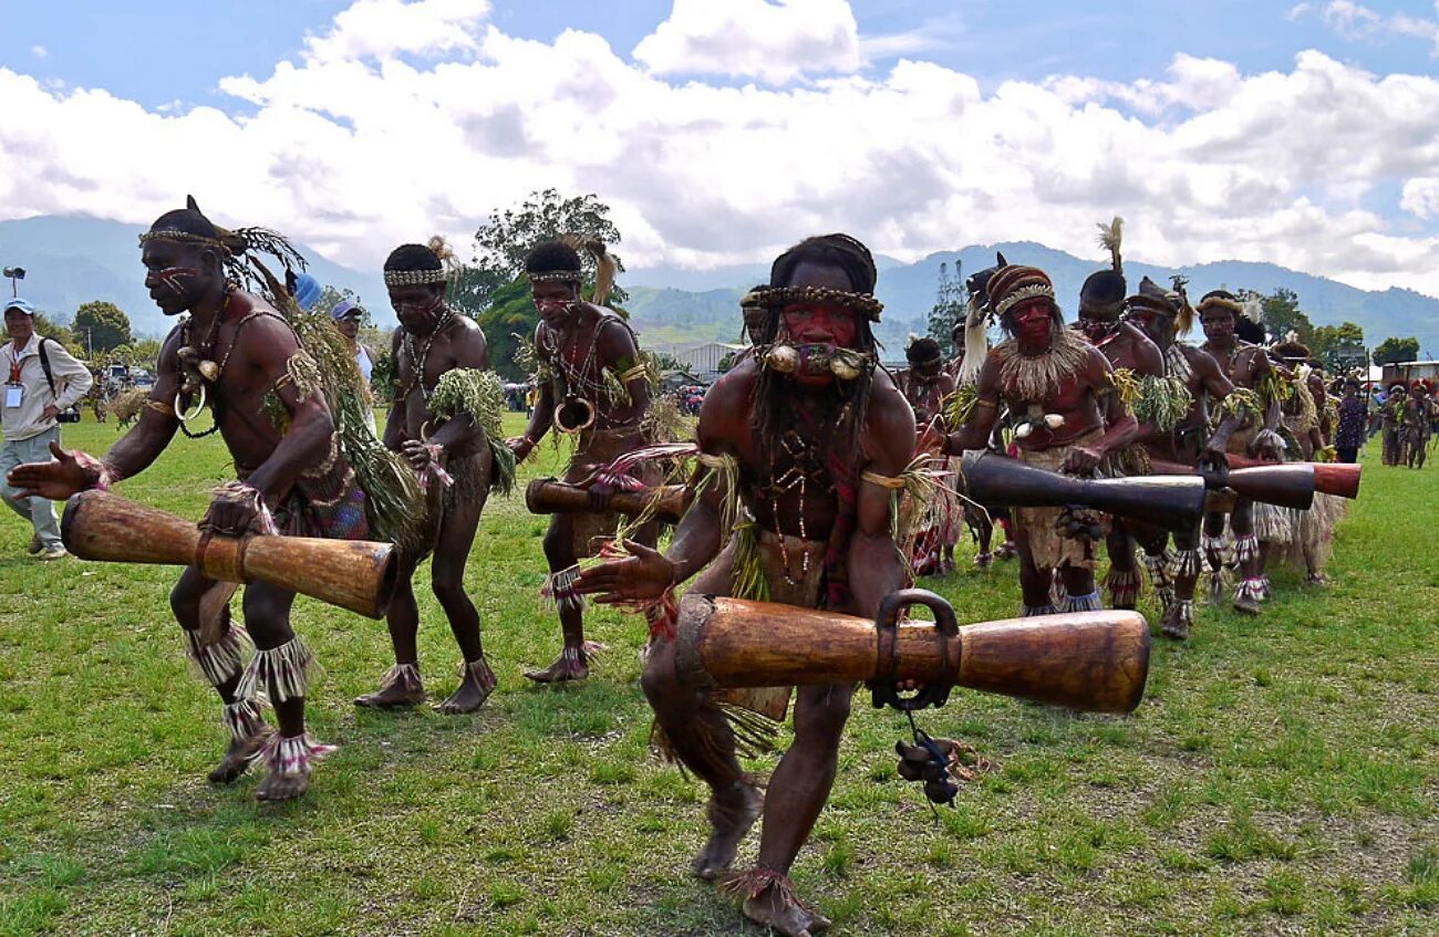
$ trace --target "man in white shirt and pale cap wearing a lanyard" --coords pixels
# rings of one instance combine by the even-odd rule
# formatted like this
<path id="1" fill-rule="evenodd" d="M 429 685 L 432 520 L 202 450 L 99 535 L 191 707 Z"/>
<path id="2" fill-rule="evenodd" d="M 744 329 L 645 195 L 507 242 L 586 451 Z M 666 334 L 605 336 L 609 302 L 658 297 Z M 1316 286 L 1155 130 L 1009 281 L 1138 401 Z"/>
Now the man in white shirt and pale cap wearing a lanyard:
<path id="1" fill-rule="evenodd" d="M 22 463 L 50 460 L 50 446 L 60 443 L 56 417 L 83 400 L 95 378 L 63 345 L 36 335 L 35 309 L 26 300 L 6 302 L 4 331 L 10 341 L 0 348 L 0 377 L 4 378 L 0 499 L 35 527 L 32 555 L 60 559 L 66 553 L 55 504 L 43 497 L 19 497 L 6 474 Z"/>

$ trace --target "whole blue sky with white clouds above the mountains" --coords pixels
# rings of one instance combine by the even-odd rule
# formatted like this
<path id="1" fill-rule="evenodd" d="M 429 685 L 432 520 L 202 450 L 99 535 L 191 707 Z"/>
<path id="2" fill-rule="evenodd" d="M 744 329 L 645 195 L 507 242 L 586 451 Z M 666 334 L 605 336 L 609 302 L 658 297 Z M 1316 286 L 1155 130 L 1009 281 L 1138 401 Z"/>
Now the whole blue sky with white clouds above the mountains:
<path id="1" fill-rule="evenodd" d="M 0 0 L 0 218 L 367 269 L 554 187 L 633 267 L 1036 240 L 1439 296 L 1430 0 Z"/>

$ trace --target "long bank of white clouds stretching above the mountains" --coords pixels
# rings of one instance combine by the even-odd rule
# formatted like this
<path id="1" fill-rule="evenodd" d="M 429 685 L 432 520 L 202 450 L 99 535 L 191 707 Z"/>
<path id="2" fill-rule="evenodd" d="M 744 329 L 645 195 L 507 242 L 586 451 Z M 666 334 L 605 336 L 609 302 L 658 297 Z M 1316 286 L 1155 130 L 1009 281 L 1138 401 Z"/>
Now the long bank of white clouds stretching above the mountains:
<path id="1" fill-rule="evenodd" d="M 299 62 L 222 82 L 249 116 L 0 69 L 0 217 L 145 224 L 194 193 L 222 223 L 376 267 L 435 231 L 466 244 L 489 211 L 553 185 L 613 206 L 630 266 L 708 267 L 822 230 L 902 259 L 997 240 L 1097 256 L 1094 223 L 1122 214 L 1137 260 L 1268 260 L 1439 295 L 1439 237 L 1423 233 L 1439 217 L 1436 78 L 1305 52 L 1259 75 L 1177 56 L 1127 85 L 984 92 L 902 60 L 735 88 L 672 83 L 590 33 L 515 39 L 469 16 L 478 4 L 446 20 L 468 39 L 440 53 L 430 26 L 459 7 L 396 9 L 389 45 L 341 16 Z M 1386 218 L 1371 203 L 1399 187 Z"/>

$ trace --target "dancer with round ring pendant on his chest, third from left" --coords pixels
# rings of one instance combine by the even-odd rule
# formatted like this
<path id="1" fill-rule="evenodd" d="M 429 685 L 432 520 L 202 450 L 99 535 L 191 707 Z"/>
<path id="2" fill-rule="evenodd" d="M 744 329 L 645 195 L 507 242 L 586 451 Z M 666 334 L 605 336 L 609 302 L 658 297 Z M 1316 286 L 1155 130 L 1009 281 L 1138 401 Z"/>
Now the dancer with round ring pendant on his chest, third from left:
<path id="1" fill-rule="evenodd" d="M 524 461 L 551 428 L 577 437 L 564 481 L 589 484 L 596 509 L 550 519 L 544 595 L 560 612 L 564 648 L 553 664 L 525 674 L 537 683 L 583 680 L 590 673 L 589 654 L 599 645 L 584 640 L 584 596 L 576 589 L 578 560 L 593 556 L 614 535 L 619 516 L 604 507 L 614 483 L 623 483 L 597 479 L 596 471 L 646 444 L 642 423 L 649 410 L 649 368 L 629 323 L 600 305 L 613 283 L 613 260 L 603 244 L 594 244 L 591 251 L 600 263 L 593 303 L 580 299 L 580 254 L 573 247 L 545 243 L 525 257 L 530 290 L 540 309 L 534 343 L 540 402 L 525 434 L 509 440 L 509 446 L 515 460 Z M 649 527 L 640 539 L 652 545 L 656 535 Z"/>

